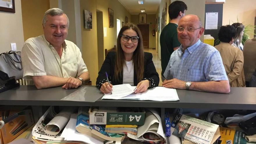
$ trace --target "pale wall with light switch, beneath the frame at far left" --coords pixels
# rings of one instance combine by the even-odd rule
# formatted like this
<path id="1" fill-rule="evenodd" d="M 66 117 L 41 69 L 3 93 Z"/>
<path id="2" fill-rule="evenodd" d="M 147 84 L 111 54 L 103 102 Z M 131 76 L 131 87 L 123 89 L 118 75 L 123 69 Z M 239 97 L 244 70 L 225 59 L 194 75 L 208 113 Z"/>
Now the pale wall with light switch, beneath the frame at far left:
<path id="1" fill-rule="evenodd" d="M 10 51 L 10 43 L 16 43 L 17 51 L 24 43 L 21 1 L 15 0 L 15 13 L 0 12 L 0 53 Z"/>

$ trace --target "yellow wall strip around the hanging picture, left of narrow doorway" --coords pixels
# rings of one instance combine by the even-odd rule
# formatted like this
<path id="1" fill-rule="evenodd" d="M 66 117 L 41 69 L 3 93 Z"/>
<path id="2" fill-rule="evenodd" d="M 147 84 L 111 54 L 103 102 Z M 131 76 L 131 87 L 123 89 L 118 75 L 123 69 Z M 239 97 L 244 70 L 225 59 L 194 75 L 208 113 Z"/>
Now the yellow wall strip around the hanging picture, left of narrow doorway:
<path id="1" fill-rule="evenodd" d="M 92 12 L 93 29 L 84 29 L 84 10 Z M 81 29 L 82 29 L 82 57 L 92 84 L 95 85 L 98 76 L 97 24 L 96 1 L 80 0 Z"/>

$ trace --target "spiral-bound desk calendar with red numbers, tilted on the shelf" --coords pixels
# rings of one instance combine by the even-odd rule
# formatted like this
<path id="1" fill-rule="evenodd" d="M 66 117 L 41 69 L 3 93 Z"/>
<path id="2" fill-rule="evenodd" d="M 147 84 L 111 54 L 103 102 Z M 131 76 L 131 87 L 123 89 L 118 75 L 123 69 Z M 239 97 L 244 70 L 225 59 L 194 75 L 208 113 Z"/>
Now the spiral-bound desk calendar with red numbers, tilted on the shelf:
<path id="1" fill-rule="evenodd" d="M 197 144 L 212 144 L 220 135 L 219 125 L 182 115 L 173 135 Z"/>

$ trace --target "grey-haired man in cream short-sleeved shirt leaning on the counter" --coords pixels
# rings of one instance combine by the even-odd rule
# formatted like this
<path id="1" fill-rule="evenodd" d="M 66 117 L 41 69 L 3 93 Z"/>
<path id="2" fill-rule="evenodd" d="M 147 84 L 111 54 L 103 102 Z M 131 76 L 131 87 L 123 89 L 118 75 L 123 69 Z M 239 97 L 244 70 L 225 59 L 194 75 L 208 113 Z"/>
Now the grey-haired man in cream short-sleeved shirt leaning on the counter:
<path id="1" fill-rule="evenodd" d="M 63 10 L 47 10 L 42 24 L 44 35 L 29 38 L 22 48 L 24 79 L 38 89 L 77 88 L 89 81 L 89 72 L 79 48 L 65 40 L 69 19 Z"/>

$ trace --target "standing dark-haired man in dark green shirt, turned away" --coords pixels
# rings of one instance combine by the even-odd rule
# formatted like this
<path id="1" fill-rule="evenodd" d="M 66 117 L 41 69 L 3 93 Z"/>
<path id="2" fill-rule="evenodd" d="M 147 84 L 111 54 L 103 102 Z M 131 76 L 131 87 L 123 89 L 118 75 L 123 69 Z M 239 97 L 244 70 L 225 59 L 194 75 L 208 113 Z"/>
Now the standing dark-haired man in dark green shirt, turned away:
<path id="1" fill-rule="evenodd" d="M 170 22 L 167 24 L 160 35 L 161 46 L 161 78 L 170 60 L 170 56 L 176 49 L 179 48 L 180 43 L 177 38 L 177 27 L 179 20 L 184 17 L 187 10 L 187 5 L 183 1 L 174 1 L 168 8 Z"/>

